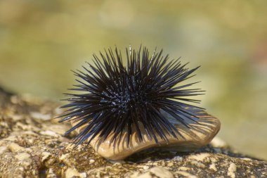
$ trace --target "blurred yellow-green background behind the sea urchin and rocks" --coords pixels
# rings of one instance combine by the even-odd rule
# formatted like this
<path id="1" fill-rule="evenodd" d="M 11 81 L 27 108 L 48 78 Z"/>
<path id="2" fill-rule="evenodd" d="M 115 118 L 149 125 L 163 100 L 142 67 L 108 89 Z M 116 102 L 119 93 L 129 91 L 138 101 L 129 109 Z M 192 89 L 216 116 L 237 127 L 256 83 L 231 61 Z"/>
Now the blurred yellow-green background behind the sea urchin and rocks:
<path id="1" fill-rule="evenodd" d="M 206 90 L 219 136 L 267 159 L 267 1 L 0 1 L 0 84 L 58 101 L 104 47 L 163 48 Z"/>

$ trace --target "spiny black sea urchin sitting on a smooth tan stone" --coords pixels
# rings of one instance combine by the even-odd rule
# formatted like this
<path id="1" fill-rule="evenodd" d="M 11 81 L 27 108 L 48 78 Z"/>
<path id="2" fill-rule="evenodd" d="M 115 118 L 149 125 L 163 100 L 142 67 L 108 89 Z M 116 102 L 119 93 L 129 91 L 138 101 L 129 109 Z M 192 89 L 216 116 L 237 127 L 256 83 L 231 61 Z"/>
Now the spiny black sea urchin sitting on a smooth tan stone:
<path id="1" fill-rule="evenodd" d="M 69 134 L 83 127 L 74 139 L 74 144 L 82 144 L 87 139 L 88 144 L 98 137 L 105 141 L 112 134 L 110 141 L 121 141 L 126 132 L 127 145 L 131 134 L 136 132 L 139 141 L 143 140 L 142 130 L 150 140 L 158 143 L 157 136 L 168 141 L 167 134 L 178 138 L 183 137 L 174 124 L 168 120 L 167 113 L 181 125 L 191 126 L 184 118 L 193 120 L 197 117 L 186 108 L 198 108 L 189 103 L 198 100 L 186 98 L 201 94 L 200 89 L 185 89 L 195 83 L 181 84 L 194 75 L 197 68 L 189 70 L 179 61 L 179 58 L 168 61 L 168 55 L 162 56 L 162 50 L 152 55 L 145 47 L 138 51 L 126 49 L 127 65 L 123 65 L 122 54 L 115 49 L 100 52 L 100 58 L 93 55 L 93 64 L 84 67 L 84 72 L 73 71 L 79 77 L 79 84 L 74 85 L 75 91 L 81 94 L 67 94 L 69 108 L 60 122 L 73 120 L 77 122 L 66 132 Z M 178 85 L 180 84 L 180 85 Z"/>

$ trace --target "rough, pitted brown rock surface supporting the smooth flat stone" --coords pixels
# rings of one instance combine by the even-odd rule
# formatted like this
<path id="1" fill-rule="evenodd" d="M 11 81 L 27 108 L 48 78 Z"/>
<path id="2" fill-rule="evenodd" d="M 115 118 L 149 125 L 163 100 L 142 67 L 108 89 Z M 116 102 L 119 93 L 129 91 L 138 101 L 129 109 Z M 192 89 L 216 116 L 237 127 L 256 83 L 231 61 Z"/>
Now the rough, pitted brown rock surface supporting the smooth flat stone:
<path id="1" fill-rule="evenodd" d="M 224 141 L 192 153 L 150 149 L 124 161 L 70 145 L 58 103 L 0 88 L 0 177 L 267 177 L 266 161 L 233 151 Z"/>

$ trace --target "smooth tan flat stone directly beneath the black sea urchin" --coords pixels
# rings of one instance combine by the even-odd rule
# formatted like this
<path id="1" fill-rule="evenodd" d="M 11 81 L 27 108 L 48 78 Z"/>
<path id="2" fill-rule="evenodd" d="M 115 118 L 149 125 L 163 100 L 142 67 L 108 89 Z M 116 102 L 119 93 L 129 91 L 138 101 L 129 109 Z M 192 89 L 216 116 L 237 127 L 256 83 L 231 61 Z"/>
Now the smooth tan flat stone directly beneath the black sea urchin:
<path id="1" fill-rule="evenodd" d="M 201 148 L 202 146 L 209 144 L 211 139 L 214 138 L 221 127 L 221 122 L 216 117 L 213 117 L 202 110 L 197 112 L 198 124 L 192 122 L 191 120 L 185 120 L 185 122 L 190 122 L 190 125 L 195 129 L 188 129 L 187 127 L 181 125 L 181 123 L 178 123 L 178 121 L 171 116 L 165 114 L 166 117 L 170 117 L 169 119 L 171 120 L 171 122 L 174 122 L 176 129 L 178 129 L 181 135 L 183 135 L 183 137 L 178 136 L 178 139 L 174 138 L 171 135 L 167 135 L 169 143 L 167 143 L 164 139 L 157 135 L 159 144 L 156 144 L 154 140 L 150 140 L 147 134 L 145 134 L 145 129 L 141 129 L 143 141 L 139 141 L 138 135 L 133 131 L 133 134 L 130 137 L 129 146 L 127 146 L 126 144 L 126 131 L 122 134 L 122 141 L 117 143 L 115 147 L 110 144 L 110 140 L 112 139 L 113 134 L 110 134 L 110 136 L 108 136 L 108 138 L 104 142 L 102 142 L 100 139 L 98 139 L 98 136 L 96 136 L 96 138 L 91 141 L 90 145 L 98 154 L 109 160 L 123 160 L 133 153 L 138 153 L 139 151 L 148 148 L 157 147 L 161 150 L 168 151 L 194 151 L 197 148 Z M 74 125 L 77 125 L 77 122 L 75 122 L 75 120 L 72 120 L 71 124 L 72 127 L 74 127 Z M 80 132 L 82 132 L 85 127 L 86 125 L 84 127 L 77 128 L 77 133 L 79 134 Z"/>

